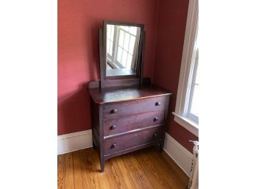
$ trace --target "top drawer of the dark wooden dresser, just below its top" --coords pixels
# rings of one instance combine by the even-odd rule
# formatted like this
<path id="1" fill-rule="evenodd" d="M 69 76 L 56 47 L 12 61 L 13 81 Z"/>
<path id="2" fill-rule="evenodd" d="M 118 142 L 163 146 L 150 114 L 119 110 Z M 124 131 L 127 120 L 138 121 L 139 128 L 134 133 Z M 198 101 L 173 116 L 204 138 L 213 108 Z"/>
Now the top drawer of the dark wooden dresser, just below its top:
<path id="1" fill-rule="evenodd" d="M 138 113 L 156 111 L 166 107 L 166 96 L 104 104 L 103 118 L 118 118 Z"/>

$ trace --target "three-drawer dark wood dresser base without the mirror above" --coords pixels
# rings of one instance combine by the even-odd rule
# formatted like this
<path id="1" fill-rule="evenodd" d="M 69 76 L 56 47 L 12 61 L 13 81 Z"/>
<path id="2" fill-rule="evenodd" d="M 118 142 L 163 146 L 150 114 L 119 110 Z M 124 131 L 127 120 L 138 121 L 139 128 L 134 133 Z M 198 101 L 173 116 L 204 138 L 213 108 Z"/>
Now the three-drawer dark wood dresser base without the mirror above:
<path id="1" fill-rule="evenodd" d="M 89 89 L 93 148 L 104 161 L 130 151 L 159 145 L 163 151 L 168 101 L 167 90 L 153 85 Z"/>

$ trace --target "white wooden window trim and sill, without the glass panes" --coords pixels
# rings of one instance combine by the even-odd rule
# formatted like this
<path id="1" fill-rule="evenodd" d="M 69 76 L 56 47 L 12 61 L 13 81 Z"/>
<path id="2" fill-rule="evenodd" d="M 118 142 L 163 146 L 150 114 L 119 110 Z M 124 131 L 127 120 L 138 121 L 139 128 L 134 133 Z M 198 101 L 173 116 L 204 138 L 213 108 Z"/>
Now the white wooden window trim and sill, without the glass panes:
<path id="1" fill-rule="evenodd" d="M 197 32 L 198 23 L 198 0 L 190 0 L 188 4 L 188 16 L 185 29 L 185 39 L 182 52 L 182 63 L 179 73 L 179 86 L 177 91 L 177 101 L 174 114 L 174 121 L 183 126 L 193 135 L 199 136 L 199 124 L 185 116 L 185 110 L 188 110 L 188 98 L 190 97 L 190 90 L 193 74 L 191 74 L 191 63 L 193 61 L 194 41 Z M 193 67 L 192 67 L 193 68 Z M 193 73 L 193 72 L 192 72 Z M 189 92 L 188 92 L 189 91 Z"/>

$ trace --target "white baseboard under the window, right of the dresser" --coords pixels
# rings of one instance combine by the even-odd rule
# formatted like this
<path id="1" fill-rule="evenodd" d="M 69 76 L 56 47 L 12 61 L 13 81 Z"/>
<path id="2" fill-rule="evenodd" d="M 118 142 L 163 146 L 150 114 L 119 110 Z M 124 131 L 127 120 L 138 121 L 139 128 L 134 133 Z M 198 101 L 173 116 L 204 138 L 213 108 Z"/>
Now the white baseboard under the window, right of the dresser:
<path id="1" fill-rule="evenodd" d="M 172 160 L 174 160 L 179 168 L 189 177 L 191 174 L 191 163 L 193 154 L 185 149 L 180 143 L 166 133 L 165 146 L 163 150 L 166 151 Z"/>

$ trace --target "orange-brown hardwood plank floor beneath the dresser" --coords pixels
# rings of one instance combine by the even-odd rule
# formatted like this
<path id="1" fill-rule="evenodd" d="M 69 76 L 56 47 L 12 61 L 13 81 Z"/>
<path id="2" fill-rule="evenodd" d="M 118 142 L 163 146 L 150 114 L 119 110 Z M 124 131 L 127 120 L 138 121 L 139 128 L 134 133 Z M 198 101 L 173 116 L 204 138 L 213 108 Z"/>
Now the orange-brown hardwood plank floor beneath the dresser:
<path id="1" fill-rule="evenodd" d="M 57 160 L 58 189 L 185 189 L 188 185 L 188 176 L 155 147 L 107 160 L 104 173 L 93 148 L 62 154 Z"/>

